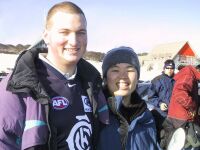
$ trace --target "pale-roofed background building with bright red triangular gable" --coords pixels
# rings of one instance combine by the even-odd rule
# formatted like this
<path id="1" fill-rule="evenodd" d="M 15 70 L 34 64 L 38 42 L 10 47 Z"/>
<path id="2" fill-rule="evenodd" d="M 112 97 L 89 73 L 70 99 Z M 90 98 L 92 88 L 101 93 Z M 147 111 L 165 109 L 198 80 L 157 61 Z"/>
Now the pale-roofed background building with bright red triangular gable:
<path id="1" fill-rule="evenodd" d="M 197 65 L 198 56 L 191 48 L 189 42 L 173 42 L 155 46 L 143 60 L 143 65 L 147 65 L 148 70 L 156 68 L 162 70 L 163 63 L 167 59 L 173 59 L 175 67 L 179 65 Z"/>

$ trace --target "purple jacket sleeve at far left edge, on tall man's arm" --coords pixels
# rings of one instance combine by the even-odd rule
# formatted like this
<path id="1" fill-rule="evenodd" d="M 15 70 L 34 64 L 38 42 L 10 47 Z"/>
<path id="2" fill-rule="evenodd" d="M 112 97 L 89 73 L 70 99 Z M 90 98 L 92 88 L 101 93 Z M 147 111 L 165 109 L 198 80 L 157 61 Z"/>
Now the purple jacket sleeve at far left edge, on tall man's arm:
<path id="1" fill-rule="evenodd" d="M 0 148 L 20 149 L 25 118 L 23 101 L 6 91 L 5 80 L 0 83 L 0 93 Z"/>

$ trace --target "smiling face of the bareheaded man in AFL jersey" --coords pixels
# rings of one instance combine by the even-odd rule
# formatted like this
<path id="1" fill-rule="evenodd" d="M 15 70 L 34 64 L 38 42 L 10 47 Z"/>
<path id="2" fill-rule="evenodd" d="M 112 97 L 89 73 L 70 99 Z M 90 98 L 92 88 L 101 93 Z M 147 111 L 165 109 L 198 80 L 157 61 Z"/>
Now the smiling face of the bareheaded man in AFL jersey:
<path id="1" fill-rule="evenodd" d="M 57 67 L 74 66 L 87 46 L 86 20 L 82 14 L 57 12 L 44 32 L 48 59 Z"/>

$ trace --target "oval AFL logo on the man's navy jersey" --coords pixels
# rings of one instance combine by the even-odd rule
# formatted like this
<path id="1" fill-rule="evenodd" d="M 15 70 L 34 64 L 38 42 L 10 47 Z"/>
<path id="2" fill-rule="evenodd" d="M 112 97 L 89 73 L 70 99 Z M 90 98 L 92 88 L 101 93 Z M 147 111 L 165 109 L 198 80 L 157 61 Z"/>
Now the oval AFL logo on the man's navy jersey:
<path id="1" fill-rule="evenodd" d="M 54 109 L 62 110 L 67 108 L 69 101 L 65 97 L 57 96 L 52 98 L 52 105 Z"/>

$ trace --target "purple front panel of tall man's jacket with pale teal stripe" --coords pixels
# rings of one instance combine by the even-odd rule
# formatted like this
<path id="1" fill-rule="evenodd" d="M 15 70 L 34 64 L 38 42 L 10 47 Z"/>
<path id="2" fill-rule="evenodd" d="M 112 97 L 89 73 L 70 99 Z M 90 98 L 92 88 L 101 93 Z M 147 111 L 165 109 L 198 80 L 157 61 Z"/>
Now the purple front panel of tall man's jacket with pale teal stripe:
<path id="1" fill-rule="evenodd" d="M 48 141 L 48 127 L 45 115 L 45 105 L 41 105 L 27 97 L 25 127 L 22 135 L 22 149 L 37 145 L 45 145 Z"/>

